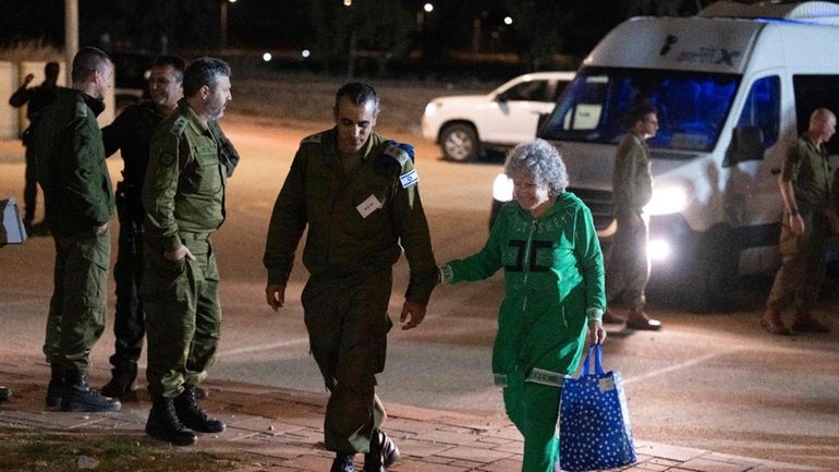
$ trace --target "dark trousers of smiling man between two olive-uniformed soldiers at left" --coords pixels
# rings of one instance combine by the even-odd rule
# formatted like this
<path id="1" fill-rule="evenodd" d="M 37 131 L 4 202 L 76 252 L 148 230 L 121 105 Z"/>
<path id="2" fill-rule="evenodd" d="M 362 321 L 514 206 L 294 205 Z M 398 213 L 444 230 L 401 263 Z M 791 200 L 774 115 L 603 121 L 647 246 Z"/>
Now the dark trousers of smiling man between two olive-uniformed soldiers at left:
<path id="1" fill-rule="evenodd" d="M 124 198 L 117 197 L 120 235 L 113 280 L 117 282 L 117 310 L 113 317 L 114 353 L 110 358 L 114 377 L 134 379 L 146 335 L 139 287 L 143 280 L 143 213 L 132 211 Z"/>

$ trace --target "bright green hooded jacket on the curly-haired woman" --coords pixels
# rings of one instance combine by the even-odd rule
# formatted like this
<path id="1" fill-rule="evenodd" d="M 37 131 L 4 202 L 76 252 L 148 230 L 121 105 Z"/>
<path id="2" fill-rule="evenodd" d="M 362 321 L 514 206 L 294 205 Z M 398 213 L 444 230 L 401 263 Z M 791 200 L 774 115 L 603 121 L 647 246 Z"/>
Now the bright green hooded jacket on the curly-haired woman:
<path id="1" fill-rule="evenodd" d="M 574 373 L 585 346 L 588 318 L 606 307 L 604 266 L 592 213 L 566 192 L 534 219 L 516 202 L 501 207 L 484 247 L 443 267 L 445 282 L 474 281 L 504 269 L 493 372 Z"/>

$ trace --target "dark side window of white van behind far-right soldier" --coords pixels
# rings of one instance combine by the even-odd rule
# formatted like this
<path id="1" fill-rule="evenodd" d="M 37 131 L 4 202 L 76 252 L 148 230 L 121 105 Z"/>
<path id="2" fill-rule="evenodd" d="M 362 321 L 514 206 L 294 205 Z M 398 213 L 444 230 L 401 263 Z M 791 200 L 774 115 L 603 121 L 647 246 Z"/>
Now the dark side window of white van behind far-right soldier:
<path id="1" fill-rule="evenodd" d="M 839 114 L 839 75 L 793 75 L 792 88 L 795 93 L 795 121 L 799 135 L 810 128 L 810 114 L 818 108 L 827 108 Z M 839 138 L 827 142 L 830 154 L 839 154 Z"/>

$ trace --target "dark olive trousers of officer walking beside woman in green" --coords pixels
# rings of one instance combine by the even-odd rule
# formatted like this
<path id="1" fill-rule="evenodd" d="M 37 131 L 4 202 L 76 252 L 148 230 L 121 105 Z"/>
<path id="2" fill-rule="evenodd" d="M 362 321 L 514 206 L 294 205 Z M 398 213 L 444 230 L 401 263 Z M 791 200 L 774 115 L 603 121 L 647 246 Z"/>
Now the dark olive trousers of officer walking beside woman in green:
<path id="1" fill-rule="evenodd" d="M 376 396 L 376 374 L 385 368 L 388 266 L 341 277 L 313 275 L 302 294 L 312 354 L 330 391 L 324 444 L 340 453 L 369 451 L 374 432 L 387 417 Z"/>

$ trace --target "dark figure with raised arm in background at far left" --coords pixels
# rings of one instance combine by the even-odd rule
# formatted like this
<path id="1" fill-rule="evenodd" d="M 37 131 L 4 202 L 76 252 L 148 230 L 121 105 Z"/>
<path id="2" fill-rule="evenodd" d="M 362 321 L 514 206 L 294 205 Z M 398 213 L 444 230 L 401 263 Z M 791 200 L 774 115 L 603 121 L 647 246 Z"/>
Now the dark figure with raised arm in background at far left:
<path id="1" fill-rule="evenodd" d="M 38 116 L 50 104 L 56 101 L 58 90 L 63 88 L 58 86 L 58 62 L 47 62 L 44 66 L 44 83 L 37 87 L 27 87 L 35 78 L 33 74 L 26 75 L 21 87 L 9 98 L 9 105 L 15 108 L 26 107 L 26 118 L 29 120 L 29 128 L 23 133 L 23 145 L 26 146 L 26 183 L 23 189 L 23 203 L 25 214 L 23 222 L 26 231 L 33 232 L 33 220 L 35 219 L 35 205 L 38 196 L 37 172 L 35 171 L 35 153 L 32 146 L 32 130 L 38 120 Z M 40 229 L 40 228 L 37 228 Z"/>

